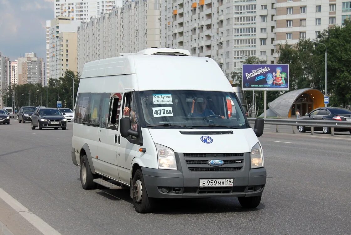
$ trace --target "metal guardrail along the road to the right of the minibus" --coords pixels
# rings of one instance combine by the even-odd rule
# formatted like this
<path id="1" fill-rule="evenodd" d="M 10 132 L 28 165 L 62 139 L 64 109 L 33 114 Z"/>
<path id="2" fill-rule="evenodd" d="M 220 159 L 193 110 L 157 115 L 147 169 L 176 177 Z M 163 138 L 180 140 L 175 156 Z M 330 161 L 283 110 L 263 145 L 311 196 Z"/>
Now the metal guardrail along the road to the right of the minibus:
<path id="1" fill-rule="evenodd" d="M 248 118 L 250 123 L 254 123 L 256 118 Z M 266 118 L 264 123 L 267 125 L 276 125 L 276 132 L 278 132 L 278 125 L 292 126 L 292 133 L 295 134 L 295 128 L 298 126 L 311 127 L 311 135 L 314 134 L 314 127 L 329 127 L 331 136 L 334 136 L 334 128 L 350 128 L 351 121 L 324 121 L 324 120 L 304 120 L 304 119 L 275 119 Z"/>

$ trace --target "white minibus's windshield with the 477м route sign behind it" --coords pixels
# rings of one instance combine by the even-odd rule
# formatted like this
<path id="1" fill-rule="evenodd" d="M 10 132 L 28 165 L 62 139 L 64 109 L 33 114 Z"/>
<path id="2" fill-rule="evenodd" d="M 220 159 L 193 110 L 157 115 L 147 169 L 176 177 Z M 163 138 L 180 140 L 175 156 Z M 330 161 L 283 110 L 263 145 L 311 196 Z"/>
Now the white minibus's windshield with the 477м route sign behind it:
<path id="1" fill-rule="evenodd" d="M 147 128 L 248 128 L 234 93 L 203 90 L 140 91 Z"/>

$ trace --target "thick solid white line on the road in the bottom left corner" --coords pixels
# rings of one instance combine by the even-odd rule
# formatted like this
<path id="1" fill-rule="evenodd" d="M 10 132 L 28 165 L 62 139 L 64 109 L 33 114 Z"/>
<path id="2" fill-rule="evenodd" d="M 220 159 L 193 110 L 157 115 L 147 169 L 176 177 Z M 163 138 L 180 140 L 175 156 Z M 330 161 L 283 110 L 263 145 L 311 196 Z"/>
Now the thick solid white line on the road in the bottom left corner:
<path id="1" fill-rule="evenodd" d="M 37 228 L 43 234 L 61 235 L 53 227 L 47 224 L 44 220 L 40 219 L 37 215 L 30 212 L 25 206 L 14 199 L 11 195 L 6 193 L 0 188 L 0 198 L 4 200 L 9 206 L 11 206 L 16 212 L 23 216 L 29 223 Z"/>

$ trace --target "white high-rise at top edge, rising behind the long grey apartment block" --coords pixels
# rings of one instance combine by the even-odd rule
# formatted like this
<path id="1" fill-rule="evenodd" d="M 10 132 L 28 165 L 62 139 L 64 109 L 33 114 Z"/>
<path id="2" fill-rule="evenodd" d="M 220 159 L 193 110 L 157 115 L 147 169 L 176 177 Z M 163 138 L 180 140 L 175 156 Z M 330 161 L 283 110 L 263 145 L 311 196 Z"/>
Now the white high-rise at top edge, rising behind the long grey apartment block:
<path id="1" fill-rule="evenodd" d="M 134 1 L 134 0 L 132 0 Z M 72 20 L 90 20 L 91 16 L 101 13 L 109 13 L 112 7 L 121 7 L 122 0 L 100 1 L 100 0 L 55 0 L 55 18 L 67 16 Z"/>

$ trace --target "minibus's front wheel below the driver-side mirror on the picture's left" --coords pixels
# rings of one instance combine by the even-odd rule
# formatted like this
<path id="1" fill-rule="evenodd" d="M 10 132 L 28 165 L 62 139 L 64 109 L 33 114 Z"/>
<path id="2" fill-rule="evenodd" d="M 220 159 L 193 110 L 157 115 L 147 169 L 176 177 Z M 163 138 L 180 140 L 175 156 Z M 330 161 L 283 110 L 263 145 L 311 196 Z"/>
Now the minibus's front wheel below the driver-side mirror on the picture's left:
<path id="1" fill-rule="evenodd" d="M 141 169 L 138 169 L 133 177 L 133 204 L 134 209 L 138 213 L 150 213 L 152 211 L 152 202 L 154 199 L 147 195 L 146 187 L 143 187 L 144 177 Z M 138 193 L 141 192 L 141 194 Z"/>

